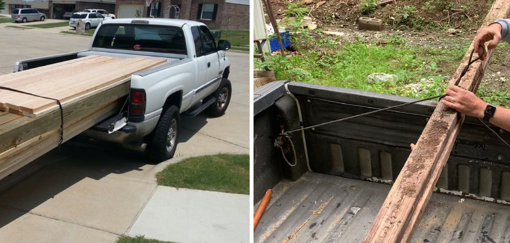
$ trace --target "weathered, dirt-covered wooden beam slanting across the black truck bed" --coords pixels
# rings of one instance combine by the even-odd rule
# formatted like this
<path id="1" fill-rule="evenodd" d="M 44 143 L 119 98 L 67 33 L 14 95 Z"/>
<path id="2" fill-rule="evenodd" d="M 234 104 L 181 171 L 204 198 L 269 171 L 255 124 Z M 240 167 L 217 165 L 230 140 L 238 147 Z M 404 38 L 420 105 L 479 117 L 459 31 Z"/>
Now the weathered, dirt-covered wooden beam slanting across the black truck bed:
<path id="1" fill-rule="evenodd" d="M 497 18 L 505 18 L 509 12 L 510 1 L 495 1 L 482 27 Z M 471 43 L 451 83 L 455 82 L 468 63 L 473 45 L 474 43 Z M 461 80 L 460 87 L 476 92 L 492 53 L 493 51 L 489 51 L 486 60 L 471 65 Z M 463 120 L 464 115 L 447 108 L 443 103 L 438 104 L 382 204 L 364 242 L 409 242 L 430 198 L 432 188 L 448 159 Z"/>

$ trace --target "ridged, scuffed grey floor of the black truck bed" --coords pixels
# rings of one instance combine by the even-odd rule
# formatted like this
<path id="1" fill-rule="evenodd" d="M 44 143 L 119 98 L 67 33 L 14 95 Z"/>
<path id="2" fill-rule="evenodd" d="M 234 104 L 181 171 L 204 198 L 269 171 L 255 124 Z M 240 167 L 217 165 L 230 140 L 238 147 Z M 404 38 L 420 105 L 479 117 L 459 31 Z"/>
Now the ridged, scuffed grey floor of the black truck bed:
<path id="1" fill-rule="evenodd" d="M 313 172 L 282 180 L 253 242 L 362 242 L 390 188 Z M 510 205 L 433 192 L 411 242 L 510 242 Z"/>

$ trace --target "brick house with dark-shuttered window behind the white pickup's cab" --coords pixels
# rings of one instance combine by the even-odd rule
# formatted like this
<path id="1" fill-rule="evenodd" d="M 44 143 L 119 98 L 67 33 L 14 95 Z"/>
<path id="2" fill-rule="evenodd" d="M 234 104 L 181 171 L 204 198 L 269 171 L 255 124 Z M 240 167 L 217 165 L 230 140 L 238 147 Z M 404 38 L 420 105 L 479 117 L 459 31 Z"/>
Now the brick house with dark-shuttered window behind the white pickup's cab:
<path id="1" fill-rule="evenodd" d="M 118 18 L 155 17 L 200 21 L 214 29 L 247 30 L 249 0 L 116 0 Z"/>

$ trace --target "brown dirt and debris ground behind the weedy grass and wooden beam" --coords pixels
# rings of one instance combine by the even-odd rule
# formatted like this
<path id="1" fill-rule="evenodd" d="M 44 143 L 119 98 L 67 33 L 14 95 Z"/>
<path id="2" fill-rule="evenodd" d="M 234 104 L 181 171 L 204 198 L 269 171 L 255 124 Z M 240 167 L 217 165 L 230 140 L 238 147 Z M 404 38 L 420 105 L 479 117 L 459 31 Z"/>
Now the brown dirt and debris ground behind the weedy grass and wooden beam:
<path id="1" fill-rule="evenodd" d="M 492 1 L 454 0 L 453 2 L 446 2 L 434 0 L 430 2 L 435 5 L 435 8 L 424 10 L 422 8 L 427 1 L 401 0 L 396 1 L 396 4 L 378 7 L 374 12 L 367 14 L 363 13 L 360 6 L 362 1 L 360 0 L 327 0 L 325 4 L 316 8 L 319 2 L 321 0 L 315 0 L 313 4 L 306 5 L 304 1 L 299 2 L 297 0 L 271 1 L 276 19 L 284 22 L 288 21 L 285 18 L 289 12 L 289 6 L 291 8 L 311 9 L 305 15 L 312 18 L 312 21 L 317 24 L 317 29 L 322 33 L 325 31 L 337 32 L 335 36 L 340 37 L 338 38 L 339 43 L 353 42 L 356 38 L 366 42 L 376 42 L 392 36 L 399 36 L 404 40 L 402 45 L 413 44 L 434 48 L 449 48 L 457 45 L 468 46 L 492 6 Z M 403 21 L 401 8 L 404 6 L 416 7 L 416 12 L 409 17 L 414 22 L 411 22 L 411 20 Z M 359 17 L 381 18 L 385 22 L 385 30 L 358 30 L 356 19 Z M 417 19 L 420 21 L 416 21 Z M 270 22 L 268 17 L 267 22 Z M 450 33 L 451 29 L 455 30 L 454 34 Z M 315 37 L 316 39 L 320 38 L 317 35 Z M 290 54 L 292 55 L 292 52 Z M 510 84 L 508 83 L 510 79 L 510 60 L 506 58 L 508 56 L 510 56 L 510 45 L 500 44 L 494 53 L 488 70 L 486 70 L 480 87 L 484 87 L 486 90 L 495 89 L 510 92 Z M 451 65 L 456 68 L 458 64 L 452 63 Z M 453 71 L 444 74 L 445 77 L 451 78 Z"/>

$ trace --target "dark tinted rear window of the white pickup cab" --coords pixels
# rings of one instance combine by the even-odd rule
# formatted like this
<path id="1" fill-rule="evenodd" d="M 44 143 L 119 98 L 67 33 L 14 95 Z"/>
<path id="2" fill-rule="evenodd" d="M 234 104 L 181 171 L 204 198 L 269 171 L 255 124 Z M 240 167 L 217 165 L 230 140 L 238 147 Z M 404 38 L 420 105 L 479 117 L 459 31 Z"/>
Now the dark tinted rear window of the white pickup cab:
<path id="1" fill-rule="evenodd" d="M 186 40 L 180 27 L 140 24 L 103 25 L 92 47 L 186 55 Z"/>

